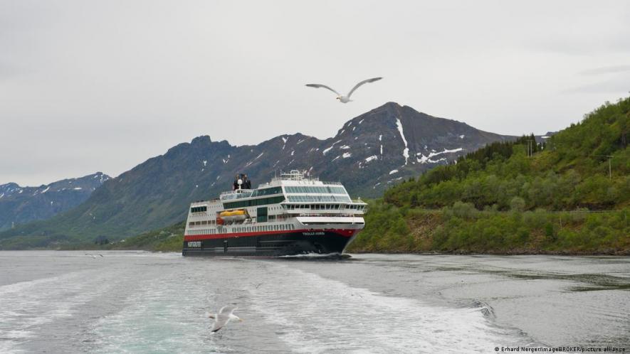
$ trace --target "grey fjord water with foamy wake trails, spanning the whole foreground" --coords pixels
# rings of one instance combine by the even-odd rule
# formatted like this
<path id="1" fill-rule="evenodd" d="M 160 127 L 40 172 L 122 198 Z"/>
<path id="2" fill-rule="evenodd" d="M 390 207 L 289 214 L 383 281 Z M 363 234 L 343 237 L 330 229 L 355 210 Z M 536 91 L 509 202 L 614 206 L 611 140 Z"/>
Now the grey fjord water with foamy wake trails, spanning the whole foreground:
<path id="1" fill-rule="evenodd" d="M 0 353 L 630 350 L 627 257 L 102 254 L 0 252 Z"/>

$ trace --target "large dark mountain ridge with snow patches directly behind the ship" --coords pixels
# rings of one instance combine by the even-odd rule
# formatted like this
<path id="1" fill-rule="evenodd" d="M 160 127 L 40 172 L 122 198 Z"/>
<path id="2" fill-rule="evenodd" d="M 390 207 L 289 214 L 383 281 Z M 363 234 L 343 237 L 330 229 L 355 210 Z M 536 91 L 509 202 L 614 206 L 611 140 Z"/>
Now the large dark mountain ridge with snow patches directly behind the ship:
<path id="1" fill-rule="evenodd" d="M 461 154 L 513 139 L 394 102 L 351 119 L 325 140 L 298 133 L 256 146 L 232 146 L 199 136 L 105 181 L 67 213 L 0 233 L 0 247 L 116 239 L 172 225 L 186 217 L 191 201 L 229 190 L 236 173 L 247 173 L 256 186 L 275 171 L 300 169 L 322 180 L 341 181 L 352 197 L 377 196 L 392 183 Z"/>

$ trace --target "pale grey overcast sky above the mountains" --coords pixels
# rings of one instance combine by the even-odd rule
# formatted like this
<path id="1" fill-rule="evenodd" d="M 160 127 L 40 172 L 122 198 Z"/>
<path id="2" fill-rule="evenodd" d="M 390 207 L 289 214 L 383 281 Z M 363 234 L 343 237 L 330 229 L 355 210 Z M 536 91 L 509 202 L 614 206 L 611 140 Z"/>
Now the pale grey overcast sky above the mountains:
<path id="1" fill-rule="evenodd" d="M 623 0 L 0 0 L 0 183 L 117 176 L 203 134 L 326 138 L 388 101 L 562 129 L 628 95 L 629 18 Z M 304 87 L 374 76 L 349 104 Z"/>

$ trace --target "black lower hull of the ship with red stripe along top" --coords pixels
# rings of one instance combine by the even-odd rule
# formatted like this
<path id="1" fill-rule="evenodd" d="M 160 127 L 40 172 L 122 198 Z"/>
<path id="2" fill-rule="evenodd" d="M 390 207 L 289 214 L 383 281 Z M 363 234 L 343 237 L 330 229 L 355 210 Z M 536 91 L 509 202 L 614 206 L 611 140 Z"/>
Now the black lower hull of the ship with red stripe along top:
<path id="1" fill-rule="evenodd" d="M 341 254 L 359 230 L 292 230 L 184 237 L 184 256 L 282 257 Z"/>

